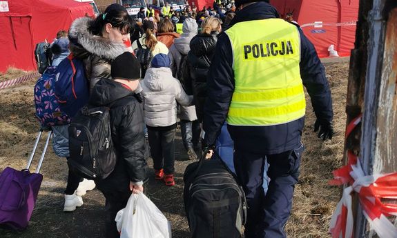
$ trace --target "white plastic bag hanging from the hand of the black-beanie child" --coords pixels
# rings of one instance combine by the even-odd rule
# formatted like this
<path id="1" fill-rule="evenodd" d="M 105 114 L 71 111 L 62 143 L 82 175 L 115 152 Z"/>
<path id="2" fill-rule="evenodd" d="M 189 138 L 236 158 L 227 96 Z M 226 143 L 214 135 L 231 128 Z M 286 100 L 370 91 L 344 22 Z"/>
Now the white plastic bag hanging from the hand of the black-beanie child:
<path id="1" fill-rule="evenodd" d="M 171 238 L 166 217 L 142 192 L 130 196 L 115 221 L 120 238 Z"/>

